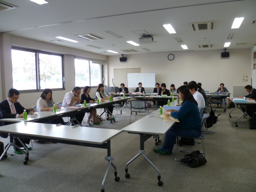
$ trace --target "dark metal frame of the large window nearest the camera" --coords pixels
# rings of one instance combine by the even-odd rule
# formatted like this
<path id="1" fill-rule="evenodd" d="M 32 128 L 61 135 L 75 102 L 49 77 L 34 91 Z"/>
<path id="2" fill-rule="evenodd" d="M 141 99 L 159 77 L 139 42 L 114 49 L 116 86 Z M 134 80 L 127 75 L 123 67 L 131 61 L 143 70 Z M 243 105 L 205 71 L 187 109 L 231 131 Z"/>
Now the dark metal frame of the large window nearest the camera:
<path id="1" fill-rule="evenodd" d="M 52 53 L 47 51 L 29 49 L 29 48 L 20 48 L 16 46 L 12 46 L 12 50 L 19 50 L 19 51 L 26 51 L 35 53 L 35 65 L 36 65 L 36 89 L 29 89 L 29 90 L 19 90 L 20 93 L 34 93 L 34 92 L 42 92 L 44 89 L 40 88 L 40 62 L 39 62 L 39 54 L 48 54 L 48 55 L 55 55 L 61 57 L 61 65 L 62 65 L 62 88 L 51 88 L 52 91 L 60 91 L 66 90 L 65 86 L 65 76 L 64 76 L 64 54 Z M 13 87 L 13 83 L 12 83 Z"/>

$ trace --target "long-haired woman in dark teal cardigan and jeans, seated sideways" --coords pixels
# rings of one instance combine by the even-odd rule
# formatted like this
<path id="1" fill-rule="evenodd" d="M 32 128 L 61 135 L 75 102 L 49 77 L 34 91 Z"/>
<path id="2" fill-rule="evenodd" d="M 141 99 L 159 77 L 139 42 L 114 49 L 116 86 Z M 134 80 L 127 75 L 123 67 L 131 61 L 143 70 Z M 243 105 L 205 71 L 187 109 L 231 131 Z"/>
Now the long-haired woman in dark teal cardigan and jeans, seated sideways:
<path id="1" fill-rule="evenodd" d="M 165 113 L 178 119 L 180 123 L 175 123 L 166 133 L 164 145 L 159 149 L 153 150 L 159 154 L 171 155 L 176 136 L 178 135 L 198 137 L 201 134 L 201 120 L 196 100 L 185 85 L 180 86 L 177 92 L 183 101 L 180 110 L 168 110 Z"/>

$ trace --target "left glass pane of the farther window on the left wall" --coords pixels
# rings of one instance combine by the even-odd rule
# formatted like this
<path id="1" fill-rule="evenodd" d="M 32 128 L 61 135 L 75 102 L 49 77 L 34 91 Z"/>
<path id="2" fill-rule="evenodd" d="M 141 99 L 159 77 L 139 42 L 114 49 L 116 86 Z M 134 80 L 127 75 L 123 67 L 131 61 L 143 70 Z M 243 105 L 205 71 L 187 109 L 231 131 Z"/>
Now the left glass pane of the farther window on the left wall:
<path id="1" fill-rule="evenodd" d="M 89 61 L 75 59 L 75 86 L 90 86 Z"/>

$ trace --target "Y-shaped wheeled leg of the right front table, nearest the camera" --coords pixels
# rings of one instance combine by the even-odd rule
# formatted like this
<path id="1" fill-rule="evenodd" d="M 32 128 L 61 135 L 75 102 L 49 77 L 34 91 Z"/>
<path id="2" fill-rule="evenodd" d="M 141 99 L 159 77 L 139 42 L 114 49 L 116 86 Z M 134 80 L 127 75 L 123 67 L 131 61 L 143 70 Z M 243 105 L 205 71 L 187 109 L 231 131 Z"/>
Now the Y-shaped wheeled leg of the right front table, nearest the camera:
<path id="1" fill-rule="evenodd" d="M 146 137 L 145 137 L 146 136 Z M 130 178 L 130 174 L 128 173 L 128 165 L 133 162 L 136 158 L 138 158 L 140 155 L 142 155 L 151 165 L 152 167 L 154 167 L 154 169 L 158 172 L 158 186 L 162 186 L 164 183 L 161 181 L 161 174 L 160 171 L 158 170 L 158 168 L 156 168 L 156 166 L 146 157 L 146 155 L 144 154 L 145 150 L 144 150 L 144 142 L 150 138 L 152 135 L 146 135 L 146 134 L 140 134 L 140 152 L 134 157 L 132 158 L 132 160 L 130 160 L 125 167 L 125 177 L 126 178 Z"/>

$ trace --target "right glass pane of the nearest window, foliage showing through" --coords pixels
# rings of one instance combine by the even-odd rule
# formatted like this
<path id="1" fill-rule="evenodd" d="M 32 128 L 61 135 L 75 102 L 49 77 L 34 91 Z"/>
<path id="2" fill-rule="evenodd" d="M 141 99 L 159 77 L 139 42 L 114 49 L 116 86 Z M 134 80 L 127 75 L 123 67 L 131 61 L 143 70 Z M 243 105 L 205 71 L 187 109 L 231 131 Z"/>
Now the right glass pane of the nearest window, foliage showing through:
<path id="1" fill-rule="evenodd" d="M 39 53 L 40 89 L 62 88 L 62 57 Z"/>

